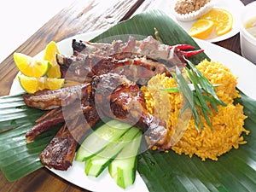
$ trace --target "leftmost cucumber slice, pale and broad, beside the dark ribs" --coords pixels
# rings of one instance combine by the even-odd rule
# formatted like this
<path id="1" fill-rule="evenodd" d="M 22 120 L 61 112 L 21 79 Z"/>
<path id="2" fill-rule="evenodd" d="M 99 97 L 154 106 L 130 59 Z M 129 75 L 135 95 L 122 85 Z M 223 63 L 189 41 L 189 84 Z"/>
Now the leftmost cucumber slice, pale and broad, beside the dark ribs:
<path id="1" fill-rule="evenodd" d="M 116 141 L 130 129 L 131 125 L 118 120 L 110 120 L 93 131 L 78 149 L 75 160 L 85 161 L 102 151 L 109 143 Z"/>

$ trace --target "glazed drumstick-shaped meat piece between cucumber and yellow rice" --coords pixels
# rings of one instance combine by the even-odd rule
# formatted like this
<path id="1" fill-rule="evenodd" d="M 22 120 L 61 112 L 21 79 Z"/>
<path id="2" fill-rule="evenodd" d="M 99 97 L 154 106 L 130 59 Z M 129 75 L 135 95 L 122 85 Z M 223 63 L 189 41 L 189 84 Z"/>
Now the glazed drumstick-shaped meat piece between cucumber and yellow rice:
<path id="1" fill-rule="evenodd" d="M 168 132 L 166 122 L 148 113 L 143 93 L 138 85 L 116 73 L 96 76 L 92 95 L 101 119 L 104 116 L 136 125 L 148 137 L 149 148 L 166 146 Z"/>

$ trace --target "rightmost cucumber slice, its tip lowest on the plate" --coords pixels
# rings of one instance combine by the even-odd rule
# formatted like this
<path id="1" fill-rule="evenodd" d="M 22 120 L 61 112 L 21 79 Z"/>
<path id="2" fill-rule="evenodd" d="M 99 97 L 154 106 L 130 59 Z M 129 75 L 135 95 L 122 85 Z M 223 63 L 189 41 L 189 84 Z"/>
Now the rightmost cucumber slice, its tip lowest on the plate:
<path id="1" fill-rule="evenodd" d="M 119 187 L 126 189 L 135 181 L 137 170 L 137 151 L 142 140 L 142 132 L 131 141 L 118 156 L 109 164 L 108 172 Z"/>

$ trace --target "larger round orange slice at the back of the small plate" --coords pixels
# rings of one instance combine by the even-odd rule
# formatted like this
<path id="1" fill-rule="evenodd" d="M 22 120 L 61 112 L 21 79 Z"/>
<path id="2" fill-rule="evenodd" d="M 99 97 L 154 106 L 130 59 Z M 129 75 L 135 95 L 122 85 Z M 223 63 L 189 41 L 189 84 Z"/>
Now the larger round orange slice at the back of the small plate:
<path id="1" fill-rule="evenodd" d="M 225 9 L 211 9 L 206 15 L 202 15 L 200 20 L 212 20 L 217 36 L 230 32 L 233 26 L 233 15 Z"/>

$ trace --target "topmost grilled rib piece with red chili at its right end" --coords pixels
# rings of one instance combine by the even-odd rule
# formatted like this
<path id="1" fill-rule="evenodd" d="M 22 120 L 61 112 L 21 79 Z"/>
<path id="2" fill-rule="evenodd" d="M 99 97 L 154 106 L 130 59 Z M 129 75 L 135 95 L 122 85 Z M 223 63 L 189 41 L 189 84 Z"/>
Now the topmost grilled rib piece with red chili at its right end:
<path id="1" fill-rule="evenodd" d="M 186 63 L 183 56 L 190 56 L 193 55 L 193 53 L 198 54 L 203 51 L 193 50 L 187 55 L 186 51 L 183 50 L 195 49 L 194 46 L 189 44 L 177 44 L 174 46 L 161 44 L 152 36 L 148 36 L 139 41 L 134 37 L 130 37 L 127 42 L 113 40 L 112 44 L 90 43 L 73 39 L 72 46 L 73 55 L 94 54 L 100 56 L 114 56 L 119 59 L 124 59 L 129 56 L 129 54 L 130 56 L 147 55 L 148 58 L 156 61 L 166 61 L 168 67 L 173 67 L 175 65 L 180 66 L 181 62 Z"/>

